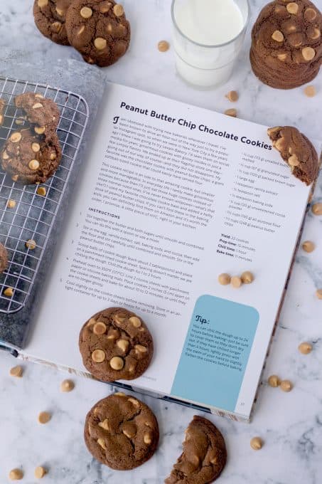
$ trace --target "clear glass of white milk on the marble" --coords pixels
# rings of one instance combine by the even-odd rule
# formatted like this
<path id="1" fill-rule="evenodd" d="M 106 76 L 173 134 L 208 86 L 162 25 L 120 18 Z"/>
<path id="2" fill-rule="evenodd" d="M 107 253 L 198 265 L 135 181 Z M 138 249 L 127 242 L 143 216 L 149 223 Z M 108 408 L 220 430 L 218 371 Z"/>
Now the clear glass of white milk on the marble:
<path id="1" fill-rule="evenodd" d="M 248 0 L 173 0 L 171 15 L 181 77 L 202 88 L 227 82 L 245 38 Z"/>

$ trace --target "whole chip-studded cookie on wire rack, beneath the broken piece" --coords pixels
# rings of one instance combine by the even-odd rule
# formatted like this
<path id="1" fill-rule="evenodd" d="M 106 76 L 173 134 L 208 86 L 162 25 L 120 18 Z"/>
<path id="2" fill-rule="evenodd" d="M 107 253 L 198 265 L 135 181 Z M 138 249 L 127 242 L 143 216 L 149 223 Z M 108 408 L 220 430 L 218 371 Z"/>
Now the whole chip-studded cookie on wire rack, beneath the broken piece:
<path id="1" fill-rule="evenodd" d="M 61 148 L 55 133 L 37 136 L 30 129 L 12 133 L 1 150 L 2 168 L 14 181 L 44 183 L 60 164 Z"/>

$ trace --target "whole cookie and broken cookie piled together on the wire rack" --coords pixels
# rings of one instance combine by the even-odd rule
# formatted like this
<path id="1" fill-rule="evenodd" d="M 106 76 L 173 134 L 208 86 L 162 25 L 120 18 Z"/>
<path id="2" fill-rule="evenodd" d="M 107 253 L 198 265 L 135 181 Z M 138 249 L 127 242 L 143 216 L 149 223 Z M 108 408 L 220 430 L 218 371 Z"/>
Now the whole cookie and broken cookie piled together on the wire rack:
<path id="1" fill-rule="evenodd" d="M 62 155 L 56 132 L 58 106 L 36 93 L 18 95 L 15 103 L 24 114 L 20 121 L 28 126 L 6 140 L 0 152 L 2 168 L 13 181 L 44 183 L 58 168 Z"/>

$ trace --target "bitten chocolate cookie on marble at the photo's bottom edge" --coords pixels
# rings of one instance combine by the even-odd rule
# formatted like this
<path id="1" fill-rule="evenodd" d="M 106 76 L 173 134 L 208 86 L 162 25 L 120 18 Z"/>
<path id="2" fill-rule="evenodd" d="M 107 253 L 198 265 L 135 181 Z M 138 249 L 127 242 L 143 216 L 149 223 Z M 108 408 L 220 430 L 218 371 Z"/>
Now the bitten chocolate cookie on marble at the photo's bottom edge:
<path id="1" fill-rule="evenodd" d="M 217 427 L 194 416 L 186 430 L 183 453 L 166 484 L 208 484 L 216 480 L 227 460 L 225 440 Z"/>

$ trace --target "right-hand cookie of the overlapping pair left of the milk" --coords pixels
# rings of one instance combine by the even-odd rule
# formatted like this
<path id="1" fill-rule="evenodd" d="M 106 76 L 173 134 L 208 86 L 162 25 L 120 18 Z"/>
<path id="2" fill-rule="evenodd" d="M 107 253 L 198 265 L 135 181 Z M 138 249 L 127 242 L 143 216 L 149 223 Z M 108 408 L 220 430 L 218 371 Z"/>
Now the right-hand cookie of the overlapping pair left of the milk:
<path id="1" fill-rule="evenodd" d="M 74 0 L 66 14 L 70 45 L 100 67 L 114 64 L 129 47 L 130 26 L 114 0 Z"/>

